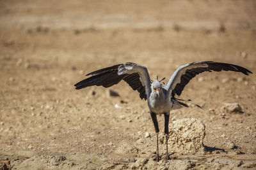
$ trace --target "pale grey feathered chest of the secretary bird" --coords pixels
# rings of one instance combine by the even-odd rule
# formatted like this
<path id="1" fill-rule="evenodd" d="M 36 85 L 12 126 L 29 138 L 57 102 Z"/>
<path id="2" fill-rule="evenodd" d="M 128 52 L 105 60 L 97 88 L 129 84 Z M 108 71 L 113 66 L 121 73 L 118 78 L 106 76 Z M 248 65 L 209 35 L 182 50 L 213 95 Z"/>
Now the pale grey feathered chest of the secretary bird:
<path id="1" fill-rule="evenodd" d="M 150 111 L 156 114 L 169 113 L 170 111 L 170 101 L 164 96 L 158 96 L 157 94 L 150 95 L 148 97 L 148 108 Z"/>

